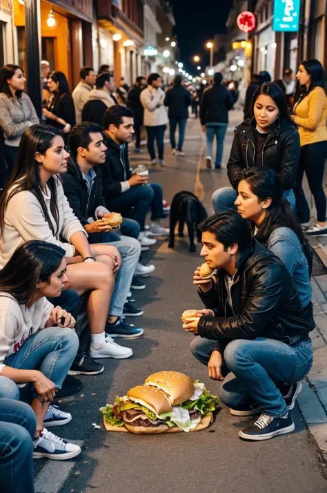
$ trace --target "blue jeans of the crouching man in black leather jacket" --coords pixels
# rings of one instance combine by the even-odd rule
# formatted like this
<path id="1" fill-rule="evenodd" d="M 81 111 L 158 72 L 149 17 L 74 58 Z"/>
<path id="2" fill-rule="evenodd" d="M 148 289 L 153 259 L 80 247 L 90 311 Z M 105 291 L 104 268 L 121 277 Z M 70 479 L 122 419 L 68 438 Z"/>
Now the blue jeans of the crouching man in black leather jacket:
<path id="1" fill-rule="evenodd" d="M 191 342 L 192 354 L 208 365 L 210 351 L 217 341 L 200 338 Z M 228 407 L 257 403 L 268 416 L 286 416 L 288 409 L 278 383 L 304 378 L 313 364 L 313 348 L 308 338 L 288 346 L 268 338 L 237 339 L 229 342 L 224 360 L 233 375 L 222 383 L 219 398 Z"/>

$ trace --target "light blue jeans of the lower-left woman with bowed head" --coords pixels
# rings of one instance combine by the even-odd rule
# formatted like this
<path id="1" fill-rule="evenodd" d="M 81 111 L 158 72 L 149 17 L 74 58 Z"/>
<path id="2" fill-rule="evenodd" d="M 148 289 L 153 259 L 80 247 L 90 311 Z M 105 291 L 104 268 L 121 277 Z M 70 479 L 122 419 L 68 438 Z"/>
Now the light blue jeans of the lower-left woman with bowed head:
<path id="1" fill-rule="evenodd" d="M 17 369 L 37 369 L 51 380 L 56 389 L 61 389 L 68 370 L 79 348 L 75 330 L 48 327 L 32 334 L 19 351 L 6 356 L 4 364 Z M 34 385 L 28 383 L 20 389 L 21 400 L 32 402 L 37 397 Z"/>

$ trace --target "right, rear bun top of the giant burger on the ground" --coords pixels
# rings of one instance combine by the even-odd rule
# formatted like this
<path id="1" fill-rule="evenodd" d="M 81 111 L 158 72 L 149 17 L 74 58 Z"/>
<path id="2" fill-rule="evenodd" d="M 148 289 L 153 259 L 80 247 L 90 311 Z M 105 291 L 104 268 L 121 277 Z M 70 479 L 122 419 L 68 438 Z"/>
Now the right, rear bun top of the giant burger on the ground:
<path id="1" fill-rule="evenodd" d="M 173 406 L 184 403 L 195 392 L 192 380 L 179 371 L 158 371 L 148 376 L 145 385 L 164 391 Z"/>

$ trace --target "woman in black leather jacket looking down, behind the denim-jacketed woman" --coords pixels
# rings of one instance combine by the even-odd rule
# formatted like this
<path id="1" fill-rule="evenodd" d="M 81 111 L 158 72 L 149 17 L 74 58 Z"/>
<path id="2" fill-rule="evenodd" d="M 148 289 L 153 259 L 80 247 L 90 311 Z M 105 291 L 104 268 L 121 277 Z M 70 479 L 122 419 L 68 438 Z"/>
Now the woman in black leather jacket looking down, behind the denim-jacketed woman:
<path id="1" fill-rule="evenodd" d="M 237 196 L 235 179 L 239 171 L 256 166 L 266 166 L 276 171 L 284 197 L 294 210 L 293 186 L 299 153 L 299 133 L 288 115 L 285 95 L 276 84 L 266 82 L 255 90 L 250 117 L 236 128 L 227 164 L 232 188 L 218 189 L 212 195 L 215 211 L 232 208 Z"/>

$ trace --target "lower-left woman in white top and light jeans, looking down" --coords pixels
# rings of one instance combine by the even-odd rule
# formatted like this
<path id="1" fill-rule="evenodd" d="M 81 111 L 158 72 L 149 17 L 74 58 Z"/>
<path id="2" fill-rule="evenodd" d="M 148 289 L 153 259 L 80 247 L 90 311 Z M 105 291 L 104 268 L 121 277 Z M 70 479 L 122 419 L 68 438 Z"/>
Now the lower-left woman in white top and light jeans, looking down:
<path id="1" fill-rule="evenodd" d="M 79 347 L 72 330 L 75 318 L 46 299 L 59 297 L 68 283 L 66 265 L 63 249 L 30 241 L 0 271 L 0 375 L 25 384 L 20 398 L 32 406 L 37 418 L 34 458 L 64 460 L 81 453 L 78 445 L 44 427 L 50 403 Z"/>

